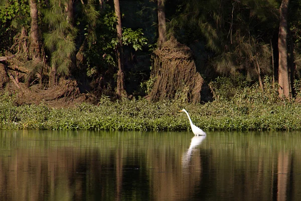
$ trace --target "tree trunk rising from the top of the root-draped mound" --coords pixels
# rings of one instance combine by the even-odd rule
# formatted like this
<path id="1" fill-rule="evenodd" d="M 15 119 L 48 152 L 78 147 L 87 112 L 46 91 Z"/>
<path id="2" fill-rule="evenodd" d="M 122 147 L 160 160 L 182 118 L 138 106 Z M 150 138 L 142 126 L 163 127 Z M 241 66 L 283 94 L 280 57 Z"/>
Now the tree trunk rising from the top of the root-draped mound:
<path id="1" fill-rule="evenodd" d="M 166 41 L 166 18 L 164 0 L 158 0 L 158 48 Z"/>

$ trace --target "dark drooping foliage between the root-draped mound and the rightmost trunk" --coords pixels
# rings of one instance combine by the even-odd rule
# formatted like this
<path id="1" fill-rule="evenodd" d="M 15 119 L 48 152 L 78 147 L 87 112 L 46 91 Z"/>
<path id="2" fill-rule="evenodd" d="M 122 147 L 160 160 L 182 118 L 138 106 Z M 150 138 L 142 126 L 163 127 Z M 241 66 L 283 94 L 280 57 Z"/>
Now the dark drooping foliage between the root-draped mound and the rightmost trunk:
<path id="1" fill-rule="evenodd" d="M 207 60 L 222 75 L 239 72 L 249 80 L 258 79 L 258 62 L 261 72 L 270 75 L 269 44 L 278 28 L 278 2 L 189 0 L 178 4 L 168 24 L 170 35 L 185 44 L 204 43 L 203 62 Z"/>

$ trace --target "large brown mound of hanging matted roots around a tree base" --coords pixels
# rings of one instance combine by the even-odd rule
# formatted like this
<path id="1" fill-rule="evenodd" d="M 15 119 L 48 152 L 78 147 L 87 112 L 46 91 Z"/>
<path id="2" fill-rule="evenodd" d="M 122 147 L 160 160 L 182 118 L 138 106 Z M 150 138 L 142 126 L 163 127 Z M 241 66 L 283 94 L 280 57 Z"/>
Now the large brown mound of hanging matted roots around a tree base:
<path id="1" fill-rule="evenodd" d="M 152 77 L 156 82 L 148 98 L 153 101 L 177 99 L 200 103 L 204 79 L 196 70 L 189 47 L 175 38 L 154 51 Z"/>

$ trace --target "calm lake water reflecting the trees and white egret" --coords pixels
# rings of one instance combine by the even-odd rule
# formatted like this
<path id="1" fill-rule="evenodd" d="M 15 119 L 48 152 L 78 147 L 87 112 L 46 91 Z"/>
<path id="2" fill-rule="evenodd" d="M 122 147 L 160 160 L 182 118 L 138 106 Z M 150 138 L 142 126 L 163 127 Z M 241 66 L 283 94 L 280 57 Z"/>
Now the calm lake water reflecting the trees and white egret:
<path id="1" fill-rule="evenodd" d="M 0 131 L 0 200 L 300 200 L 300 132 Z"/>

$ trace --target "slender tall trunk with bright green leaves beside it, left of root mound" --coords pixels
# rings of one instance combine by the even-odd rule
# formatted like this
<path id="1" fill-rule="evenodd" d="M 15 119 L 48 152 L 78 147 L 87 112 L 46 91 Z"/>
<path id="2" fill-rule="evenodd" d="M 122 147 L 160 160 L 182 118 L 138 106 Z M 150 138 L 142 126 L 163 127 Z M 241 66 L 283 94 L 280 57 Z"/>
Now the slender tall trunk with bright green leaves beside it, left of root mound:
<path id="1" fill-rule="evenodd" d="M 119 0 L 114 0 L 115 14 L 117 16 L 117 59 L 118 59 L 118 71 L 117 71 L 117 96 L 122 97 L 126 95 L 124 87 L 124 72 L 123 72 L 123 51 L 122 51 L 122 27 L 121 27 L 121 14 Z"/>

